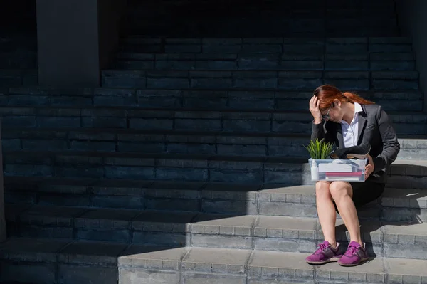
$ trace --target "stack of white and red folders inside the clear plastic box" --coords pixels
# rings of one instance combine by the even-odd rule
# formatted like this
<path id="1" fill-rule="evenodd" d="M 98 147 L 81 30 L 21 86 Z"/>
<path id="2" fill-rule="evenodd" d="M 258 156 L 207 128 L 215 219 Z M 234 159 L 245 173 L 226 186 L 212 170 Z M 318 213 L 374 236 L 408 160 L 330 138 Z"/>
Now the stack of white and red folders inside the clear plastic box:
<path id="1" fill-rule="evenodd" d="M 338 160 L 334 160 L 332 163 L 320 163 L 319 175 L 324 175 L 327 181 L 359 182 L 363 180 L 362 169 L 356 163 L 340 163 Z"/>

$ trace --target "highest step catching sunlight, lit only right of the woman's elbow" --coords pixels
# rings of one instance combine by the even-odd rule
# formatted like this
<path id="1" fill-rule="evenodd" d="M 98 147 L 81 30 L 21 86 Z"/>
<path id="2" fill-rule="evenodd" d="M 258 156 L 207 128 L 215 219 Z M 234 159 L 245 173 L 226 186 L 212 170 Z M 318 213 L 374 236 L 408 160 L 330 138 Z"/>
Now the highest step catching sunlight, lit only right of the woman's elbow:
<path id="1" fill-rule="evenodd" d="M 116 129 L 5 128 L 4 152 L 18 150 L 217 154 L 307 158 L 310 135 Z M 427 159 L 427 137 L 402 136 L 398 159 Z"/>

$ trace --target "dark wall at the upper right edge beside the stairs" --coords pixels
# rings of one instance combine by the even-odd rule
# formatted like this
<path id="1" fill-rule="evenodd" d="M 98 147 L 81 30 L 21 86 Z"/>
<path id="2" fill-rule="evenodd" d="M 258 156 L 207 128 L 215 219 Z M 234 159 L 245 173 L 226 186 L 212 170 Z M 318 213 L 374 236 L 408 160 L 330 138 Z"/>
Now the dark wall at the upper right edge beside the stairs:
<path id="1" fill-rule="evenodd" d="M 399 27 L 404 36 L 412 38 L 416 53 L 416 68 L 420 73 L 420 88 L 424 93 L 424 112 L 427 112 L 427 1 L 397 0 L 396 11 Z"/>

